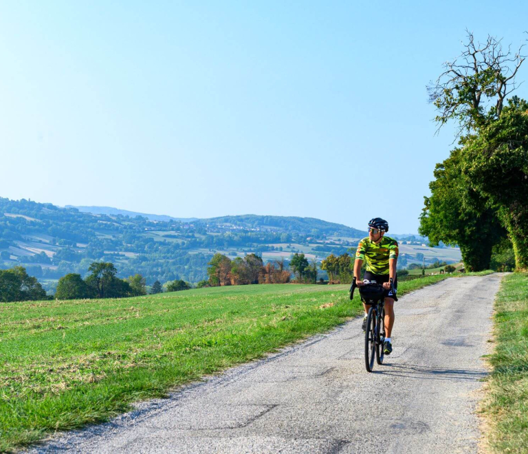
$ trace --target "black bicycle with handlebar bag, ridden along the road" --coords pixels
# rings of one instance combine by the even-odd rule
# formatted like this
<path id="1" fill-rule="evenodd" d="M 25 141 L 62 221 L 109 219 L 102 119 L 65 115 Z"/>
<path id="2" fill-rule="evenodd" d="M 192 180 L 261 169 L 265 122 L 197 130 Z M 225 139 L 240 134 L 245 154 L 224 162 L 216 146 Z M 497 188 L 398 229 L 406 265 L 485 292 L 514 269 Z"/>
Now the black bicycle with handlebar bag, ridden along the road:
<path id="1" fill-rule="evenodd" d="M 350 299 L 354 297 L 354 290 L 358 288 L 353 278 L 350 287 Z M 391 289 L 394 291 L 393 279 L 389 280 Z M 370 305 L 369 314 L 366 316 L 366 330 L 365 330 L 365 367 L 367 372 L 372 372 L 374 368 L 374 358 L 377 364 L 383 363 L 385 356 L 383 344 L 385 342 L 385 289 L 383 285 L 375 282 L 365 283 L 360 289 L 362 301 L 366 305 Z"/>

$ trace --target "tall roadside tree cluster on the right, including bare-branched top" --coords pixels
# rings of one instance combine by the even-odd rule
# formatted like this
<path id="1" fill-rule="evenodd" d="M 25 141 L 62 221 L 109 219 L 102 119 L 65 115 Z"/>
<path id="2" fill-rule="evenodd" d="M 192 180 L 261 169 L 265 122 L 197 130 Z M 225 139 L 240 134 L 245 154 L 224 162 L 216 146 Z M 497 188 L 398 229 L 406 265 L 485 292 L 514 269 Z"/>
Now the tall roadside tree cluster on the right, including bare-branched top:
<path id="1" fill-rule="evenodd" d="M 528 102 L 507 98 L 525 56 L 469 33 L 462 54 L 428 87 L 439 129 L 458 124 L 458 146 L 437 164 L 420 235 L 459 245 L 466 270 L 528 269 Z M 503 263 L 497 263 L 503 260 Z M 511 263 L 513 266 L 513 263 Z"/>

